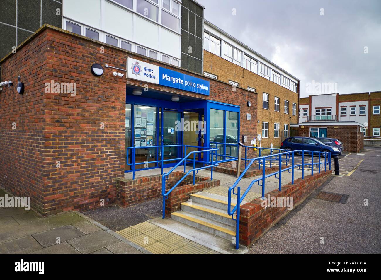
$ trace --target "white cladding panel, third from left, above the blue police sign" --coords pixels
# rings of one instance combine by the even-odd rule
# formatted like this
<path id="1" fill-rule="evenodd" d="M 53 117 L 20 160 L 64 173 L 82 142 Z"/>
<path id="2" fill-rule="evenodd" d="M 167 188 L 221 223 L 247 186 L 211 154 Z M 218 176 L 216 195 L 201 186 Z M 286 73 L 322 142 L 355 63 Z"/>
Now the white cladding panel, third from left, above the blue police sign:
<path id="1" fill-rule="evenodd" d="M 156 24 L 136 16 L 134 25 L 134 42 L 158 50 L 158 29 L 159 27 Z"/>

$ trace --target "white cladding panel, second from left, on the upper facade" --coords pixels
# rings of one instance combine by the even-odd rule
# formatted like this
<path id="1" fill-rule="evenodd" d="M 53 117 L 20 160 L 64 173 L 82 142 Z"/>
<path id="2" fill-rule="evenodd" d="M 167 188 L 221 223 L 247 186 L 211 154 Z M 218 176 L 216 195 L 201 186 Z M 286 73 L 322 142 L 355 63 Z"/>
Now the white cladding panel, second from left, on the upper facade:
<path id="1" fill-rule="evenodd" d="M 110 2 L 105 2 L 103 30 L 112 35 L 132 40 L 133 13 Z"/>

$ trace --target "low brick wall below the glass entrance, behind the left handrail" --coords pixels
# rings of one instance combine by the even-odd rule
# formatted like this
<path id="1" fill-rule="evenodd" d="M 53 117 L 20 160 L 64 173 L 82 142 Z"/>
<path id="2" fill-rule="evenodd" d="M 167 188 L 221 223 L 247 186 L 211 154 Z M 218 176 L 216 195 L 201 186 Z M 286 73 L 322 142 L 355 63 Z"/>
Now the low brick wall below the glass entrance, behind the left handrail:
<path id="1" fill-rule="evenodd" d="M 169 174 L 166 181 L 166 189 L 170 189 L 185 175 L 182 171 L 176 171 Z M 210 181 L 208 177 L 195 176 L 196 184 Z M 213 180 L 213 182 L 219 180 Z M 192 184 L 193 176 L 188 175 L 182 182 L 181 186 Z M 175 190 L 180 188 L 177 187 Z M 193 185 L 192 185 L 193 186 Z M 131 206 L 147 200 L 151 200 L 162 195 L 162 175 L 152 175 L 147 177 L 139 177 L 136 179 L 117 179 L 117 203 L 122 207 Z"/>

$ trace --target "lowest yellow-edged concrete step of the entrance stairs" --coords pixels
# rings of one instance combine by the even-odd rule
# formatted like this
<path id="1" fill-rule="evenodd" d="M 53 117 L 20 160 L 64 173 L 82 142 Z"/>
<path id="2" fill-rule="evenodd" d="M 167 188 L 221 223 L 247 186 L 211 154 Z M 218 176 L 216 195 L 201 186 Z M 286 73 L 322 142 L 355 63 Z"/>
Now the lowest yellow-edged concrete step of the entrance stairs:
<path id="1" fill-rule="evenodd" d="M 197 229 L 232 240 L 235 237 L 235 227 L 214 221 L 187 211 L 176 211 L 171 214 L 172 219 L 182 222 Z"/>

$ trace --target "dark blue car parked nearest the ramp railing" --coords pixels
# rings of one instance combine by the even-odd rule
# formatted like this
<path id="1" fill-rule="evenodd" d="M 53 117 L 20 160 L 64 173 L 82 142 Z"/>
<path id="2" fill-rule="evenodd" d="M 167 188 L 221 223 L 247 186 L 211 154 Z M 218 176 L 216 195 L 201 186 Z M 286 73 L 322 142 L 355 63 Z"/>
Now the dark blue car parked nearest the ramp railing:
<path id="1" fill-rule="evenodd" d="M 280 144 L 280 149 L 331 152 L 331 156 L 341 155 L 340 149 L 328 146 L 315 138 L 309 137 L 288 137 Z"/>

